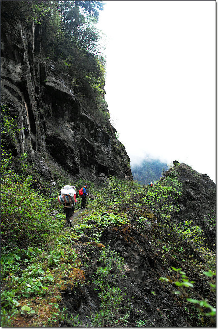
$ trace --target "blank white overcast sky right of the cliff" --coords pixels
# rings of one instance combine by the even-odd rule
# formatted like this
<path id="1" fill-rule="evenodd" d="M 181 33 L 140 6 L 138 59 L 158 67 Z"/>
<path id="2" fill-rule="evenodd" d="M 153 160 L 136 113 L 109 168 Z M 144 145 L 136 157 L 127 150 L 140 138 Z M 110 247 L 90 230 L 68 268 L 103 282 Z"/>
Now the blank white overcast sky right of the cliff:
<path id="1" fill-rule="evenodd" d="M 178 160 L 215 181 L 215 0 L 104 3 L 105 98 L 131 164 Z"/>

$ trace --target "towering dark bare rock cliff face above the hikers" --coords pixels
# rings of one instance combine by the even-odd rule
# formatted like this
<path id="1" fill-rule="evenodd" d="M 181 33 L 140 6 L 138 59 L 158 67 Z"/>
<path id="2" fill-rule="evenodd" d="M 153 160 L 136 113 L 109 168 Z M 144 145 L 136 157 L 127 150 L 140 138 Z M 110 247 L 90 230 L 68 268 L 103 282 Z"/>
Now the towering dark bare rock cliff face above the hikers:
<path id="1" fill-rule="evenodd" d="M 93 114 L 97 105 L 76 93 L 74 77 L 41 59 L 40 25 L 2 25 L 1 102 L 20 129 L 14 158 L 27 152 L 46 180 L 63 172 L 72 180 L 132 180 L 130 159 L 109 119 L 101 124 Z"/>

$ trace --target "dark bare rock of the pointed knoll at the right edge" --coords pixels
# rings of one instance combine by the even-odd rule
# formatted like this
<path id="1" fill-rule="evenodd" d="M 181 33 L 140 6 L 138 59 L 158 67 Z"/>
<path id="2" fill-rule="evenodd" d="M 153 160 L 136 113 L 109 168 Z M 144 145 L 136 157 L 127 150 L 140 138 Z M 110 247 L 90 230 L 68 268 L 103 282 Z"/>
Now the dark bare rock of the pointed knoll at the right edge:
<path id="1" fill-rule="evenodd" d="M 174 171 L 182 183 L 182 195 L 178 202 L 181 211 L 175 213 L 176 221 L 192 220 L 200 225 L 210 244 L 215 243 L 216 228 L 216 184 L 207 174 L 200 174 L 187 164 L 174 161 L 174 167 L 167 170 L 164 176 L 172 175 Z M 164 179 L 164 177 L 163 177 Z M 162 180 L 163 180 L 162 179 Z"/>

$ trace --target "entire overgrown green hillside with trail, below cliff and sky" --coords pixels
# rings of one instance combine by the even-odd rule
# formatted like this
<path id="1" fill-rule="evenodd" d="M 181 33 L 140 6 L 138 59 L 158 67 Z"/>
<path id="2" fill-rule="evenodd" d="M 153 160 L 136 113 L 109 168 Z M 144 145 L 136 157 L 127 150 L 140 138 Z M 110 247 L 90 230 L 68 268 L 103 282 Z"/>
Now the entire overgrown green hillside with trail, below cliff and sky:
<path id="1" fill-rule="evenodd" d="M 16 327 L 215 325 L 214 315 L 205 316 L 207 305 L 214 314 L 209 270 L 215 270 L 215 247 L 198 223 L 202 204 L 187 197 L 192 193 L 185 185 L 195 182 L 194 173 L 211 214 L 210 179 L 174 163 L 152 188 L 115 177 L 104 187 L 93 186 L 96 198 L 74 217 L 72 228 L 63 228 L 56 195 L 52 200 L 48 193 L 46 200 L 26 179 L 22 184 L 6 171 L 1 321 Z M 213 195 L 214 184 L 210 189 Z M 179 217 L 183 210 L 186 218 Z M 206 307 L 198 310 L 187 297 Z"/>

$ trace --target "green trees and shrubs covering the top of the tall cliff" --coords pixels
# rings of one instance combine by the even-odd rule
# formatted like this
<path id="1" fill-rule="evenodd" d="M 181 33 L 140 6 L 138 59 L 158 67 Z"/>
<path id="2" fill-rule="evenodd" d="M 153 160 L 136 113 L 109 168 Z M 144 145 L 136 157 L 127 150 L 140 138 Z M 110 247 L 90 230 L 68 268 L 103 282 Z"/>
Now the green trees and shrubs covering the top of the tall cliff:
<path id="1" fill-rule="evenodd" d="M 41 56 L 58 62 L 62 71 L 76 79 L 78 92 L 94 100 L 104 95 L 105 59 L 95 24 L 102 1 L 2 1 L 4 20 L 20 20 L 42 29 Z"/>

